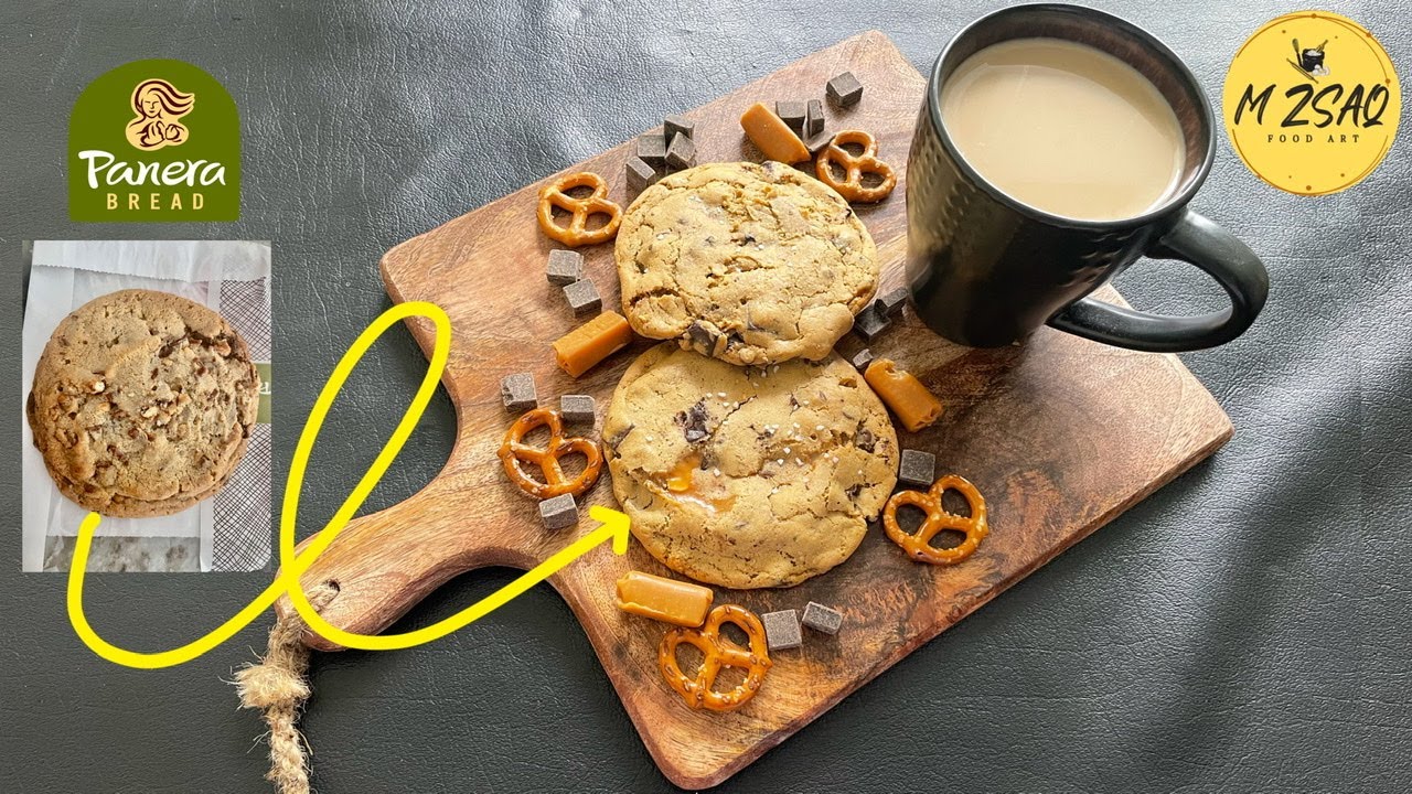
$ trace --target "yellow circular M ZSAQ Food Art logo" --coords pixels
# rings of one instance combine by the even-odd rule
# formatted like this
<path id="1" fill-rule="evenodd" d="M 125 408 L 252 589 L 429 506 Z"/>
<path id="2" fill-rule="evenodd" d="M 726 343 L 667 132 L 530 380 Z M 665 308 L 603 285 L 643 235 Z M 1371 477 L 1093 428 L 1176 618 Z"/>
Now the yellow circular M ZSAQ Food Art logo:
<path id="1" fill-rule="evenodd" d="M 1402 92 L 1387 51 L 1363 25 L 1298 11 L 1236 52 L 1221 106 L 1231 146 L 1257 177 L 1317 196 L 1357 185 L 1382 162 Z"/>

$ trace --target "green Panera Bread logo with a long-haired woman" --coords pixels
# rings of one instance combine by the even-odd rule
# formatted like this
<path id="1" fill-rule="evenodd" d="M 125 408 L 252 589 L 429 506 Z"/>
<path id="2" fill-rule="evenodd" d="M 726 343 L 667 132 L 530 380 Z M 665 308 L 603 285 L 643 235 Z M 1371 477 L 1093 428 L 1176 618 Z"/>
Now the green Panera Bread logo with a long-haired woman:
<path id="1" fill-rule="evenodd" d="M 73 220 L 240 218 L 240 114 L 184 61 L 134 61 L 89 83 L 68 157 Z"/>

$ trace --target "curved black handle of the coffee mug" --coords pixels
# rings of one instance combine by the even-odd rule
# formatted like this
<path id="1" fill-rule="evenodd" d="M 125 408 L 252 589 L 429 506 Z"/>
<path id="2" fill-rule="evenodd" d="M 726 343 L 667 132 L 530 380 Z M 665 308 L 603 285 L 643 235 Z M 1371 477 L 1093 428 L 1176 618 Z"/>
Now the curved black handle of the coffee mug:
<path id="1" fill-rule="evenodd" d="M 1083 298 L 1049 318 L 1049 325 L 1104 345 L 1149 353 L 1180 353 L 1230 342 L 1244 333 L 1265 307 L 1269 292 L 1265 266 L 1245 243 L 1204 215 L 1183 208 L 1176 225 L 1147 254 L 1200 267 L 1230 295 L 1230 308 L 1195 316 L 1171 316 Z"/>

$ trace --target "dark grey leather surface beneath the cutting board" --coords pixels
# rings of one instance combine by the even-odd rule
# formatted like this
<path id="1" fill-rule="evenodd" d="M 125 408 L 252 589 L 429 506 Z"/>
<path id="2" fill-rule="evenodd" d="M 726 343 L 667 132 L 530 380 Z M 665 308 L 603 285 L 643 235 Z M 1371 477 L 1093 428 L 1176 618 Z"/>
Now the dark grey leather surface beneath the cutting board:
<path id="1" fill-rule="evenodd" d="M 377 259 L 390 246 L 860 30 L 881 28 L 925 68 L 979 14 L 887 0 L 313 6 L 0 10 L 7 461 L 27 386 L 23 239 L 274 239 L 287 461 L 325 374 L 387 305 Z M 1214 96 L 1240 42 L 1293 10 L 1101 6 L 1156 32 Z M 1408 78 L 1408 8 L 1339 6 Z M 68 222 L 69 106 L 90 79 L 141 57 L 199 64 L 236 96 L 239 223 Z M 1195 206 L 1264 256 L 1272 292 L 1244 338 L 1183 357 L 1230 413 L 1234 439 L 722 790 L 1412 788 L 1409 137 L 1361 186 L 1300 199 L 1257 181 L 1223 136 Z M 1120 287 L 1147 308 L 1217 305 L 1214 285 L 1175 264 L 1141 264 Z M 364 362 L 315 455 L 305 531 L 373 459 L 422 367 L 401 329 Z M 373 506 L 436 473 L 452 422 L 442 397 Z M 0 790 L 265 791 L 261 723 L 236 711 L 226 680 L 264 646 L 268 616 L 178 668 L 97 660 L 68 627 L 64 579 L 17 574 L 17 466 L 0 478 Z M 511 576 L 463 576 L 400 627 Z M 93 576 L 89 615 L 120 644 L 171 647 L 265 582 Z M 432 646 L 319 657 L 313 688 L 304 728 L 325 793 L 671 788 L 546 588 Z"/>

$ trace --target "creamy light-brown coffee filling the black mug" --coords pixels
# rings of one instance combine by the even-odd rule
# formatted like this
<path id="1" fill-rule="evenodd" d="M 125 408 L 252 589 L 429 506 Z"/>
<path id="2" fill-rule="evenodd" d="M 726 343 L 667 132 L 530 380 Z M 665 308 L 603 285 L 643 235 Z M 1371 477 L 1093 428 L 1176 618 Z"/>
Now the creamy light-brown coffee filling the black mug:
<path id="1" fill-rule="evenodd" d="M 1058 38 L 1003 41 L 967 58 L 942 88 L 942 123 L 993 185 L 1083 220 L 1161 203 L 1185 160 L 1176 113 L 1151 81 Z"/>

